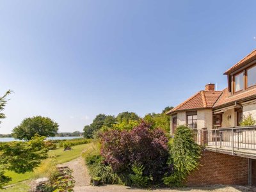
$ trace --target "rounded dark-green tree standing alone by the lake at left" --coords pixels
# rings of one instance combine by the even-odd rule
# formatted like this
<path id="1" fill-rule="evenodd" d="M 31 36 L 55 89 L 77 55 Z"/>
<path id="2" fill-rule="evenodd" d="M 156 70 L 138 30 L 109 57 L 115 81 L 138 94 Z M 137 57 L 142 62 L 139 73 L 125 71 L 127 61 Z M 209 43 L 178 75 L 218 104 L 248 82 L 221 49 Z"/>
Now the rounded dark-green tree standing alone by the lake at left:
<path id="1" fill-rule="evenodd" d="M 58 132 L 59 125 L 49 117 L 33 116 L 25 118 L 21 124 L 13 129 L 13 137 L 19 140 L 31 140 L 35 134 L 53 137 Z"/>

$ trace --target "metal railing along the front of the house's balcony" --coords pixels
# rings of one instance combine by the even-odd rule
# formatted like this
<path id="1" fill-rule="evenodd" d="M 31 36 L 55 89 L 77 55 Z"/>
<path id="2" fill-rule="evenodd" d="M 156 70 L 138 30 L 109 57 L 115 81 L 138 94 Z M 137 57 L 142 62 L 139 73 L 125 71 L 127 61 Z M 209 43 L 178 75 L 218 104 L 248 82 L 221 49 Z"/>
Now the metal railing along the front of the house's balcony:
<path id="1" fill-rule="evenodd" d="M 256 150 L 256 126 L 194 130 L 195 141 L 209 147 Z"/>

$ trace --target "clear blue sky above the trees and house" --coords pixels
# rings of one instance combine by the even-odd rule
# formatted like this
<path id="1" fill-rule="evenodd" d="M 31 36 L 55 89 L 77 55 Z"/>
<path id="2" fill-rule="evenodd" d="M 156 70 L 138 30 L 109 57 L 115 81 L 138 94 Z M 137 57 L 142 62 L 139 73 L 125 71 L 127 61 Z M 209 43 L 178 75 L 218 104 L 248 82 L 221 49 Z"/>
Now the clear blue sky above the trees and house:
<path id="1" fill-rule="evenodd" d="M 0 133 L 49 116 L 82 131 L 99 113 L 161 112 L 256 48 L 256 1 L 0 1 Z"/>

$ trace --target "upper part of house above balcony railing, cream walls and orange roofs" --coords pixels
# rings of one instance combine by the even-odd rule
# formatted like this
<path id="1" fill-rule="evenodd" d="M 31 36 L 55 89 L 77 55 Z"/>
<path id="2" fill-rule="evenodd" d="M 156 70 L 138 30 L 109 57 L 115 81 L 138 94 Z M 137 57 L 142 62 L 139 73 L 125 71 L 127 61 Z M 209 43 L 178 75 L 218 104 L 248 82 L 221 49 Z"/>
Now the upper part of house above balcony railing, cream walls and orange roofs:
<path id="1" fill-rule="evenodd" d="M 227 88 L 216 91 L 214 84 L 206 84 L 204 90 L 166 113 L 172 135 L 179 125 L 212 130 L 237 127 L 249 114 L 256 120 L 256 50 L 224 74 Z"/>

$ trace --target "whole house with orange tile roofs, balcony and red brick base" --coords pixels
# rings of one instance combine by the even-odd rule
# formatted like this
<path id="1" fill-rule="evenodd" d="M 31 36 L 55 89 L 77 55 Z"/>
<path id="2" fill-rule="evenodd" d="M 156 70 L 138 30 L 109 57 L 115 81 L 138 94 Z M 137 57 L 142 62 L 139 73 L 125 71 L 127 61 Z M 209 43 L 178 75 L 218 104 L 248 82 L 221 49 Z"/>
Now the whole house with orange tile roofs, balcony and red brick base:
<path id="1" fill-rule="evenodd" d="M 177 126 L 188 125 L 195 131 L 196 141 L 206 145 L 201 159 L 204 168 L 188 178 L 189 185 L 256 185 L 256 127 L 239 127 L 243 116 L 251 114 L 256 120 L 256 50 L 224 74 L 227 88 L 216 91 L 214 84 L 206 84 L 205 90 L 166 113 L 172 135 Z M 205 172 L 207 179 L 200 176 Z"/>

